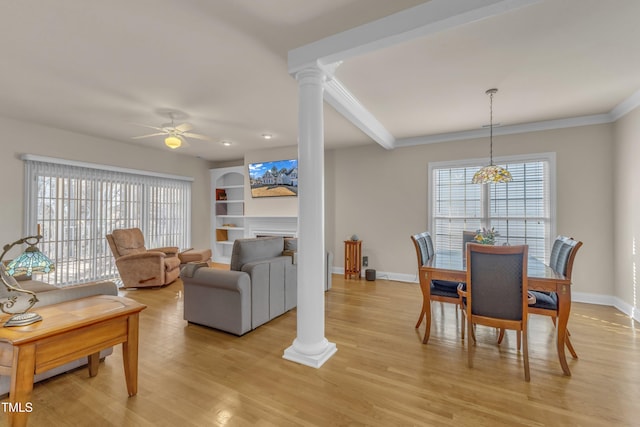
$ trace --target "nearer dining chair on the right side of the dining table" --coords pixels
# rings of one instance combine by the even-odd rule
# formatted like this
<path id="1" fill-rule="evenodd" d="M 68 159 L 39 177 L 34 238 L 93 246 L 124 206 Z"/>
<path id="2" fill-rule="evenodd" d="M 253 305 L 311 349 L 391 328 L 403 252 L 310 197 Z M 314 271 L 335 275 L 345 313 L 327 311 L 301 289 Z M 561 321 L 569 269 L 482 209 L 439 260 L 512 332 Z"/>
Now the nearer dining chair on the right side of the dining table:
<path id="1" fill-rule="evenodd" d="M 549 257 L 549 266 L 558 273 L 563 274 L 567 279 L 571 280 L 573 271 L 573 262 L 575 260 L 578 249 L 582 246 L 582 242 L 574 240 L 571 237 L 558 236 L 553 242 L 551 248 L 551 256 Z M 540 314 L 550 316 L 553 324 L 556 324 L 558 317 L 558 295 L 555 292 L 529 291 L 535 297 L 535 303 L 529 306 L 530 314 Z M 578 354 L 571 343 L 569 329 L 565 337 L 565 343 L 571 356 L 578 358 Z"/>

